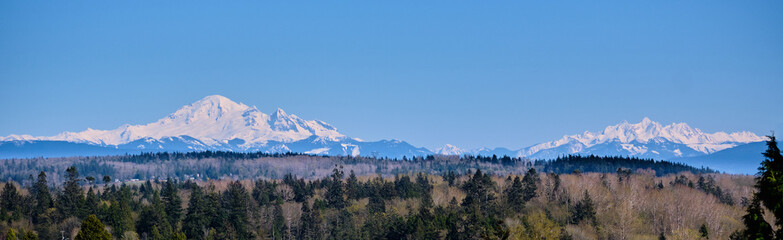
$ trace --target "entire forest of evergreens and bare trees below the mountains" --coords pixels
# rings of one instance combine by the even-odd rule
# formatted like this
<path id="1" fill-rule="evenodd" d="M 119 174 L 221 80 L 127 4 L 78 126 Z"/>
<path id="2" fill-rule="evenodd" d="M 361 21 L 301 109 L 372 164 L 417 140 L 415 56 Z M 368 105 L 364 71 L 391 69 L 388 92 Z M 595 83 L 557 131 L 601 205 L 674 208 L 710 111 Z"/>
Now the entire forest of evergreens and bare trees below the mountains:
<path id="1" fill-rule="evenodd" d="M 783 157 L 774 138 L 768 146 L 756 176 L 597 156 L 10 159 L 2 160 L 0 236 L 781 239 Z"/>

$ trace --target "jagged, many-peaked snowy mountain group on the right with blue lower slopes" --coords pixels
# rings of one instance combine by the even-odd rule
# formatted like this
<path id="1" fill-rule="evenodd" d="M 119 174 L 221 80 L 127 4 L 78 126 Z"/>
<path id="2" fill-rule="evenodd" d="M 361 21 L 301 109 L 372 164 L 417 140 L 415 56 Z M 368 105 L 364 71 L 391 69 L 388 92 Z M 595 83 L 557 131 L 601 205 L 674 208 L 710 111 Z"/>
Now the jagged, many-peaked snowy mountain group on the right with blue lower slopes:
<path id="1" fill-rule="evenodd" d="M 764 140 L 751 132 L 704 133 L 685 123 L 662 125 L 649 118 L 644 118 L 639 123 L 622 122 L 608 126 L 601 132 L 587 131 L 582 134 L 567 135 L 555 141 L 536 144 L 516 151 L 505 148 L 480 148 L 465 151 L 452 145 L 446 145 L 435 152 L 444 155 L 508 155 L 536 159 L 553 159 L 568 154 L 671 159 L 711 154 Z"/>

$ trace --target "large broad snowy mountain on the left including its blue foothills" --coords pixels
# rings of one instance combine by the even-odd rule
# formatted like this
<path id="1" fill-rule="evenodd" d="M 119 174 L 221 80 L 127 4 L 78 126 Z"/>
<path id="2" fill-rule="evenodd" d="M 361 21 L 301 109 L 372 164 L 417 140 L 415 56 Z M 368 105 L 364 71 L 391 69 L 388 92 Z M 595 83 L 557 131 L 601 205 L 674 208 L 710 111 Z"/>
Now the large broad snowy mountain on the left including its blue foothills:
<path id="1" fill-rule="evenodd" d="M 0 137 L 0 141 L 17 142 L 14 146 L 29 145 L 37 141 L 62 141 L 131 152 L 291 151 L 380 157 L 431 154 L 429 150 L 416 148 L 402 141 L 364 142 L 349 138 L 323 121 L 303 120 L 280 108 L 267 115 L 256 107 L 236 103 L 219 95 L 207 96 L 145 125 L 126 124 L 113 130 L 87 129 L 48 137 L 10 135 Z M 15 155 L 11 155 L 13 156 Z"/>

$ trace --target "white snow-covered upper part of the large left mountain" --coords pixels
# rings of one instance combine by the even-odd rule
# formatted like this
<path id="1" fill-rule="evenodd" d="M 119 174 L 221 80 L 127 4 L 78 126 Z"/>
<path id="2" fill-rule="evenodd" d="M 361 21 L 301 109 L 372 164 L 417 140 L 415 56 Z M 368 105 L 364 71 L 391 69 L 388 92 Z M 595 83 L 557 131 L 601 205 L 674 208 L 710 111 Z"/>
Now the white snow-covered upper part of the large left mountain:
<path id="1" fill-rule="evenodd" d="M 26 140 L 59 140 L 100 145 L 121 145 L 139 139 L 160 140 L 189 136 L 210 146 L 244 140 L 250 148 L 268 141 L 293 142 L 310 136 L 336 139 L 343 137 L 334 127 L 321 121 L 306 121 L 277 109 L 271 116 L 242 103 L 211 95 L 188 104 L 174 113 L 145 125 L 122 125 L 114 130 L 87 129 L 63 132 L 52 137 L 25 137 Z M 19 139 L 9 136 L 7 139 Z M 6 139 L 6 138 L 4 138 Z"/>

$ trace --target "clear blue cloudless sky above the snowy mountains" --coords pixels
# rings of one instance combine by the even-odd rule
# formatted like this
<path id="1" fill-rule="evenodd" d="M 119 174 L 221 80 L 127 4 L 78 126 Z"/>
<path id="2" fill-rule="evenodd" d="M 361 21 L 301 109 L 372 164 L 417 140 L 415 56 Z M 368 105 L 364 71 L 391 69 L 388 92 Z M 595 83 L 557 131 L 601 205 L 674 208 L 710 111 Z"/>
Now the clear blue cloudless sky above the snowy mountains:
<path id="1" fill-rule="evenodd" d="M 520 148 L 648 116 L 783 133 L 783 1 L 0 1 L 0 135 L 206 95 L 366 140 Z"/>

